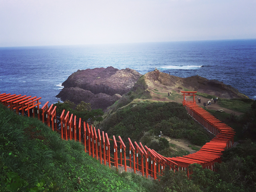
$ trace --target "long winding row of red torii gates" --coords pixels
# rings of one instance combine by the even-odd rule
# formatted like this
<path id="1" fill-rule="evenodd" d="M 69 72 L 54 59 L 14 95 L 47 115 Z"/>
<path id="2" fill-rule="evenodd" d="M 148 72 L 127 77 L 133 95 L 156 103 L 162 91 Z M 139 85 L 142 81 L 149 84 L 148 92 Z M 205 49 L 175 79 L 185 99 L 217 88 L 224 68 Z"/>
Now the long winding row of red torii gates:
<path id="1" fill-rule="evenodd" d="M 190 116 L 198 121 L 204 128 L 210 131 L 215 137 L 206 143 L 198 152 L 182 157 L 164 157 L 155 150 L 143 146 L 142 143 L 129 141 L 129 152 L 126 152 L 126 145 L 122 138 L 118 136 L 108 137 L 107 133 L 96 130 L 95 127 L 81 118 L 77 119 L 69 111 L 62 111 L 61 116 L 56 117 L 56 106 L 48 106 L 46 102 L 40 108 L 39 100 L 32 96 L 22 96 L 16 94 L 0 93 L 0 102 L 16 111 L 17 114 L 27 115 L 28 117 L 37 116 L 39 120 L 46 123 L 53 131 L 59 132 L 64 140 L 76 140 L 84 144 L 84 151 L 93 158 L 100 161 L 101 164 L 109 167 L 115 166 L 116 169 L 132 169 L 134 173 L 141 172 L 142 176 L 149 176 L 157 179 L 162 175 L 163 170 L 186 171 L 189 177 L 192 174 L 188 169 L 190 164 L 201 164 L 204 168 L 215 170 L 214 163 L 221 162 L 222 151 L 232 146 L 234 143 L 234 130 L 228 125 L 222 123 L 206 110 L 202 109 L 195 102 L 195 93 L 192 91 L 182 91 L 184 96 L 183 106 Z M 193 96 L 192 101 L 185 100 L 186 96 Z M 60 127 L 57 126 L 57 121 Z"/>

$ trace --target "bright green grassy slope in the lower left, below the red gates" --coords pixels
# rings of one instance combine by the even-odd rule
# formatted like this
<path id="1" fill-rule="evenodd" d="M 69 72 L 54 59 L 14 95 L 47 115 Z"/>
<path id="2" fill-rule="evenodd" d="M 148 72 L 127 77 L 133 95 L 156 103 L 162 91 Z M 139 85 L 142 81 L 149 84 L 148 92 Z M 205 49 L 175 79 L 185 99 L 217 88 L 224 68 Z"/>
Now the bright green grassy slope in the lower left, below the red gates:
<path id="1" fill-rule="evenodd" d="M 134 174 L 118 175 L 79 142 L 61 140 L 39 120 L 0 104 L 0 191 L 150 192 L 155 185 Z"/>

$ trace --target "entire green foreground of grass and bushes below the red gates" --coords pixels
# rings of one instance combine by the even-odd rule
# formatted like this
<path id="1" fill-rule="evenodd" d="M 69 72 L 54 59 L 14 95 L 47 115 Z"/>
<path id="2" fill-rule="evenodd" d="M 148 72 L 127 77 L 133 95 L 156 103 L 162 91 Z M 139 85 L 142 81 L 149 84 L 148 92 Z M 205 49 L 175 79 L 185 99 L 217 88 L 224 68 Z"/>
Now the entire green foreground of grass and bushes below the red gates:
<path id="1" fill-rule="evenodd" d="M 153 106 L 154 104 L 151 107 Z M 159 181 L 127 172 L 118 174 L 88 156 L 79 142 L 63 141 L 58 134 L 40 121 L 17 116 L 0 104 L 1 192 L 254 192 L 256 190 L 255 143 L 246 140 L 237 147 L 226 150 L 223 161 L 221 164 L 216 164 L 218 172 L 203 169 L 200 165 L 192 165 L 193 175 L 190 180 L 182 171 L 175 173 L 165 171 Z M 81 179 L 80 182 L 78 178 Z"/>

